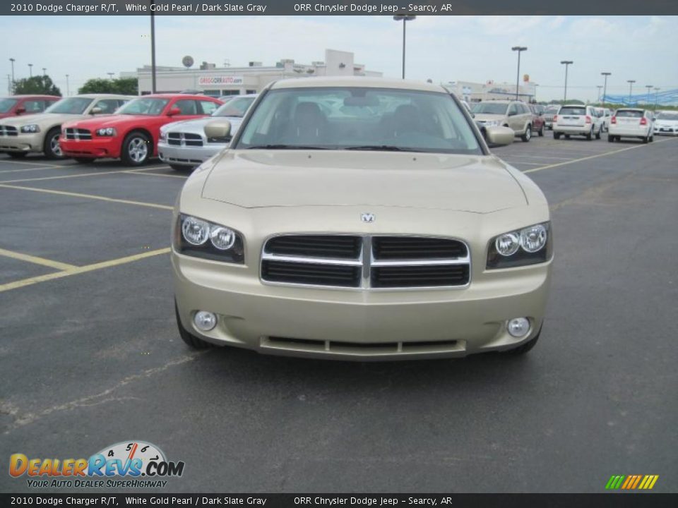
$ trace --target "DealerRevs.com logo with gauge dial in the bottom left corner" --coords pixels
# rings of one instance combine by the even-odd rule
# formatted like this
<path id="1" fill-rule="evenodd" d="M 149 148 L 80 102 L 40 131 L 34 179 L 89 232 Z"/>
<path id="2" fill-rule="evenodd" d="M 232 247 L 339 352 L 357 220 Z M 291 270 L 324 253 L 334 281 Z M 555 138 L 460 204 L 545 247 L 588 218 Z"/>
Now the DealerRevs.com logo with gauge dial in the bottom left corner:
<path id="1" fill-rule="evenodd" d="M 89 459 L 9 458 L 9 474 L 27 476 L 29 488 L 162 488 L 182 476 L 184 462 L 168 461 L 160 448 L 145 441 L 113 444 Z"/>

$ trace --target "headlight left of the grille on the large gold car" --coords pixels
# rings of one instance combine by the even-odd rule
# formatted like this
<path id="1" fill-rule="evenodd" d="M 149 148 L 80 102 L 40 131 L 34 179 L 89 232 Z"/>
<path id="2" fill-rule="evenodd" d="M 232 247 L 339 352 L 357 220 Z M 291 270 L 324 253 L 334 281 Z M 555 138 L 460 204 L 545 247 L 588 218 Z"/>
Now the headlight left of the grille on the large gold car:
<path id="1" fill-rule="evenodd" d="M 244 262 L 242 234 L 191 215 L 179 214 L 173 243 L 178 252 L 196 258 L 240 265 Z"/>

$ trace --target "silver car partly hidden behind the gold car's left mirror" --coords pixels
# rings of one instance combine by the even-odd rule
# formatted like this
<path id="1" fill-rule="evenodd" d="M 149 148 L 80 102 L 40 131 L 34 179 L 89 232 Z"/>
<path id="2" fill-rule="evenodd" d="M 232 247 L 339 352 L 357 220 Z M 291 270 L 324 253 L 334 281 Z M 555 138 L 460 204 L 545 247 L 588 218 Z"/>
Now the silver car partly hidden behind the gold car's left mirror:
<path id="1" fill-rule="evenodd" d="M 174 169 L 196 167 L 228 146 L 230 137 L 208 138 L 205 126 L 215 118 L 231 123 L 232 136 L 242 123 L 247 109 L 258 94 L 237 95 L 215 110 L 211 116 L 195 120 L 167 123 L 160 128 L 157 154 Z"/>

